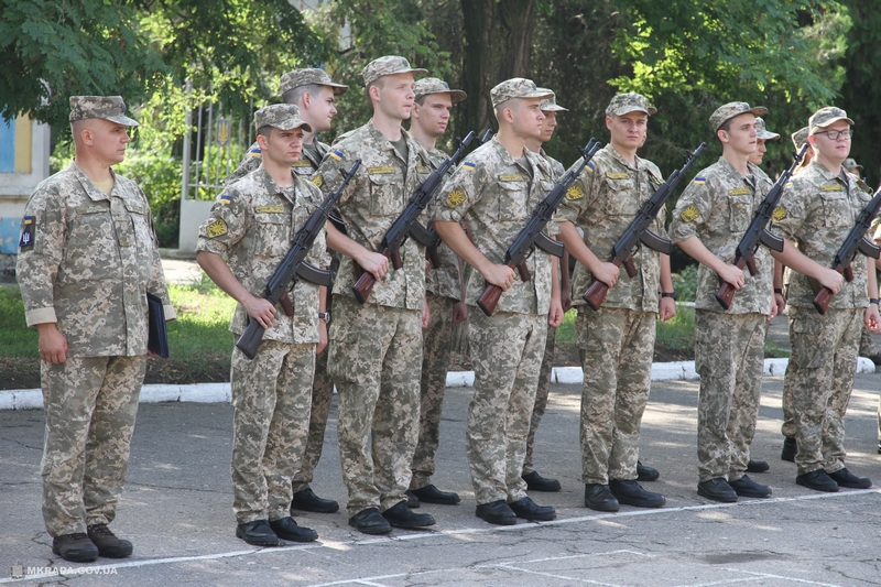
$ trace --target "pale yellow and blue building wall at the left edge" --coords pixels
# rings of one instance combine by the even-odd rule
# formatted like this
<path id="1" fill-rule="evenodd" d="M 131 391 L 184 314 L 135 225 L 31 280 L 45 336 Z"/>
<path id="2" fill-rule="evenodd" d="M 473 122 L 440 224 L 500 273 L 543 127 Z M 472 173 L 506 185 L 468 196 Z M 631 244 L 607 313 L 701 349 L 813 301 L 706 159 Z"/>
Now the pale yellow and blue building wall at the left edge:
<path id="1" fill-rule="evenodd" d="M 48 177 L 50 128 L 20 116 L 0 119 L 0 272 L 15 267 L 24 205 Z"/>

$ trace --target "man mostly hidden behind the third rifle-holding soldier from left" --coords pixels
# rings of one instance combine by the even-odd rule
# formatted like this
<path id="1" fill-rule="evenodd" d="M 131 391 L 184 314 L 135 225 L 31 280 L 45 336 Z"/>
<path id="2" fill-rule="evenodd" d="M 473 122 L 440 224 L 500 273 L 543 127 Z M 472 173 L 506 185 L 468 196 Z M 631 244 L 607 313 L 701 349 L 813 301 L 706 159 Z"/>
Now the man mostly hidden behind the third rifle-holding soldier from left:
<path id="1" fill-rule="evenodd" d="M 567 108 L 563 108 L 556 102 L 556 96 L 551 89 L 539 88 L 541 91 L 551 93 L 550 98 L 542 100 L 542 113 L 544 120 L 542 121 L 542 134 L 539 138 L 530 137 L 526 140 L 526 149 L 533 153 L 537 153 L 547 161 L 551 165 L 553 180 L 556 182 L 566 173 L 563 164 L 550 156 L 542 149 L 542 144 L 546 143 L 554 135 L 554 129 L 557 127 L 557 112 L 568 112 Z M 563 312 L 568 312 L 572 307 L 572 283 L 569 282 L 568 271 L 569 256 L 563 254 L 559 261 L 561 268 L 561 307 Z M 523 480 L 526 481 L 526 489 L 530 491 L 559 491 L 562 489 L 557 479 L 550 479 L 543 477 L 532 463 L 532 455 L 535 447 L 535 433 L 539 430 L 539 424 L 542 422 L 545 411 L 547 410 L 547 396 L 551 392 L 551 374 L 554 369 L 554 348 L 556 345 L 557 329 L 547 327 L 547 338 L 544 345 L 544 356 L 542 358 L 542 368 L 539 371 L 539 388 L 535 393 L 535 404 L 532 407 L 532 417 L 530 418 L 530 432 L 526 435 L 526 456 L 523 458 Z"/>

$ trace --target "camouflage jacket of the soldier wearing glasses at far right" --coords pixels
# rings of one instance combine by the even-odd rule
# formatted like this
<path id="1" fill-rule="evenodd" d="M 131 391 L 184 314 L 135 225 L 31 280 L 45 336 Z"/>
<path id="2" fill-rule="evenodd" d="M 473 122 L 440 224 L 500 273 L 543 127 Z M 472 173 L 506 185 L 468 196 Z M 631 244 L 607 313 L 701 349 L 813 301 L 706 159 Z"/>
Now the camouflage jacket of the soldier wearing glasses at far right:
<path id="1" fill-rule="evenodd" d="M 835 253 L 845 242 L 857 216 L 872 198 L 849 173 L 836 175 L 812 161 L 786 185 L 774 210 L 774 229 L 792 240 L 798 250 L 823 267 L 833 267 Z M 871 232 L 867 231 L 871 240 Z M 867 258 L 860 253 L 851 263 L 853 281 L 845 281 L 829 303 L 834 309 L 869 305 Z M 813 307 L 813 280 L 791 271 L 786 301 L 793 307 Z M 814 285 L 817 285 L 814 283 Z M 819 287 L 817 285 L 817 287 Z"/>

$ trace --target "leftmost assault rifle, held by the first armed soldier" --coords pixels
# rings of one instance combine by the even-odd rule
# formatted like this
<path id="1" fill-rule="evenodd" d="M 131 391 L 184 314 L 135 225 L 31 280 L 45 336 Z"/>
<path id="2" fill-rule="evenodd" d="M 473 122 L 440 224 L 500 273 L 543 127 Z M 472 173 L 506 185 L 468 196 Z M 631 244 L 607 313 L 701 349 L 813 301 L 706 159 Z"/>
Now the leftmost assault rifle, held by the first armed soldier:
<path id="1" fill-rule="evenodd" d="M 275 273 L 272 274 L 272 278 L 270 278 L 267 283 L 267 292 L 263 294 L 263 297 L 272 305 L 281 302 L 286 316 L 294 315 L 294 306 L 291 304 L 291 298 L 287 297 L 287 287 L 291 282 L 303 278 L 318 285 L 330 285 L 330 272 L 308 264 L 305 258 L 315 243 L 318 233 L 324 228 L 330 215 L 330 210 L 336 205 L 339 196 L 342 195 L 349 181 L 355 176 L 355 172 L 360 164 L 361 160 L 359 159 L 352 163 L 348 172 L 339 170 L 342 173 L 342 183 L 335 192 L 327 194 L 324 202 L 322 202 L 318 208 L 312 213 L 312 216 L 306 219 L 303 228 L 294 236 L 291 250 L 284 256 L 284 261 L 275 268 Z M 246 357 L 253 359 L 257 355 L 257 349 L 260 348 L 260 344 L 263 341 L 263 334 L 265 330 L 267 329 L 263 328 L 259 322 L 252 318 L 248 324 L 248 328 L 244 329 L 244 333 L 242 333 L 241 337 L 236 341 L 236 347 L 238 347 Z"/>

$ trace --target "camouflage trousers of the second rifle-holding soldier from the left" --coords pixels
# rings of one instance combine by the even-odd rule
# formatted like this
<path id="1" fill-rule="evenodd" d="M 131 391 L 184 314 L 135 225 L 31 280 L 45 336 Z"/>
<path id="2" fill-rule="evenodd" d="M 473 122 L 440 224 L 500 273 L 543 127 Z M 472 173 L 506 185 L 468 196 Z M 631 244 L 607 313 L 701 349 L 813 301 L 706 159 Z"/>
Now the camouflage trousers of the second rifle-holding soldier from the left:
<path id="1" fill-rule="evenodd" d="M 421 312 L 345 295 L 334 307 L 327 370 L 337 384 L 347 511 L 385 511 L 406 500 L 418 439 Z"/>

